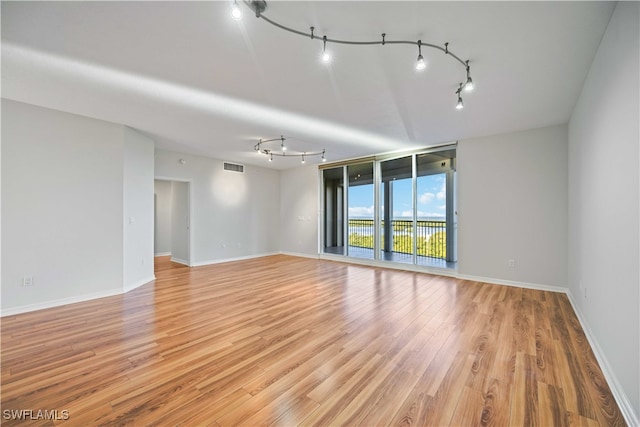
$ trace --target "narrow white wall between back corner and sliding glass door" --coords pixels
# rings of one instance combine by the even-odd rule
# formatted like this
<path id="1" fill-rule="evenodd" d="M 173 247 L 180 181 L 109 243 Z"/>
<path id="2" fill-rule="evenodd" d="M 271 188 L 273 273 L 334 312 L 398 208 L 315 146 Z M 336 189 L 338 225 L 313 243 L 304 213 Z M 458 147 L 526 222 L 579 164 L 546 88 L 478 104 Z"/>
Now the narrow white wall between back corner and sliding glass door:
<path id="1" fill-rule="evenodd" d="M 318 167 L 303 166 L 280 173 L 280 249 L 318 256 Z"/>

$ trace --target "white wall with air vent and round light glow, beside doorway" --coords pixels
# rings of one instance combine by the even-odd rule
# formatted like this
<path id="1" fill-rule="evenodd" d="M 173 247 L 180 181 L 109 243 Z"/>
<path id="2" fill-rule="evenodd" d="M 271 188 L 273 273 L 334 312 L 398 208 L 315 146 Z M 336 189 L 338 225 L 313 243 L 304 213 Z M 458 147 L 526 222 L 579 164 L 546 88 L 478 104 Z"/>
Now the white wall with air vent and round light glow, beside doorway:
<path id="1" fill-rule="evenodd" d="M 245 173 L 229 172 L 222 164 L 156 151 L 156 178 L 191 183 L 192 263 L 279 252 L 280 173 L 250 165 Z"/>

